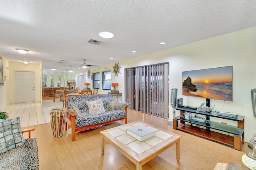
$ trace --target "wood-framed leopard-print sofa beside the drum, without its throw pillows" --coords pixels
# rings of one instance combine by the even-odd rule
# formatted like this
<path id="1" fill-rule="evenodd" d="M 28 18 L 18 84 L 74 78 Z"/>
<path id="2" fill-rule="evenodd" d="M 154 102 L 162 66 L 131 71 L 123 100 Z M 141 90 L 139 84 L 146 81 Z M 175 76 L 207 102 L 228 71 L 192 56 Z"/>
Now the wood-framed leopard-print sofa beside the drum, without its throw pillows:
<path id="1" fill-rule="evenodd" d="M 102 103 L 106 112 L 100 114 L 89 114 L 88 101 L 94 101 L 102 98 Z M 107 111 L 108 102 L 112 102 L 110 94 L 81 95 L 68 97 L 66 101 L 66 123 L 71 127 L 72 141 L 75 141 L 75 132 L 90 129 L 99 125 L 104 125 L 118 120 L 125 120 L 127 123 L 127 107 L 124 110 Z M 70 106 L 78 106 L 84 117 L 76 118 L 70 111 Z M 66 126 L 67 127 L 67 126 Z"/>

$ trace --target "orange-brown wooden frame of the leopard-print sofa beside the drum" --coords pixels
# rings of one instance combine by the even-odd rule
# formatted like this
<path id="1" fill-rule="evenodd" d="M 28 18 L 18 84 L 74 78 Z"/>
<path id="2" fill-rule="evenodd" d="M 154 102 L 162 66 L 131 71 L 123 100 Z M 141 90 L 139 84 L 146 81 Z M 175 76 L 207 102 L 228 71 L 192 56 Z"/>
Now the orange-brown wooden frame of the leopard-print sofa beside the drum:
<path id="1" fill-rule="evenodd" d="M 125 107 L 124 111 L 126 111 L 127 113 L 127 107 Z M 93 128 L 93 127 L 97 127 L 97 126 L 100 126 L 100 125 L 105 125 L 107 123 L 112 123 L 114 121 L 119 121 L 119 120 L 123 120 L 124 119 L 124 123 L 126 124 L 127 123 L 127 115 L 125 118 L 122 118 L 122 119 L 116 119 L 116 120 L 112 120 L 112 121 L 107 121 L 107 122 L 104 122 L 104 123 L 100 123 L 100 124 L 95 124 L 95 125 L 88 125 L 88 126 L 83 126 L 83 127 L 77 127 L 75 125 L 75 118 L 76 118 L 76 115 L 74 113 L 72 113 L 72 111 L 69 111 L 67 108 L 64 108 L 65 111 L 66 111 L 66 118 L 65 118 L 65 130 L 67 131 L 67 129 L 69 129 L 71 127 L 71 139 L 72 139 L 72 142 L 76 140 L 76 137 L 75 137 L 75 134 L 77 131 L 82 131 L 82 130 L 86 130 L 86 129 L 90 129 L 90 128 Z"/>

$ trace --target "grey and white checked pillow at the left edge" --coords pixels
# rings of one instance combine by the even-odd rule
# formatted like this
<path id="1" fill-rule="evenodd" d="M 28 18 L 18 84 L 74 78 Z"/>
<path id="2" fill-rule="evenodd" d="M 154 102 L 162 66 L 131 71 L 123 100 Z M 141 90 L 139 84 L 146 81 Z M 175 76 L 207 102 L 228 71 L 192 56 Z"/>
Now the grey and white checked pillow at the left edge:
<path id="1" fill-rule="evenodd" d="M 0 154 L 24 144 L 20 117 L 0 119 Z"/>

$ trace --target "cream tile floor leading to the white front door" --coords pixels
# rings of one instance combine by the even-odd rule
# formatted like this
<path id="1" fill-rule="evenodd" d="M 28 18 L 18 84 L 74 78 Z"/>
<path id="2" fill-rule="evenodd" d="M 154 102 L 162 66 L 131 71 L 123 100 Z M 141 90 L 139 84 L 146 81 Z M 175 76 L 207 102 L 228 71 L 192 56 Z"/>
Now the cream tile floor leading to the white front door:
<path id="1" fill-rule="evenodd" d="M 50 111 L 54 107 L 62 107 L 63 103 L 60 100 L 44 100 L 42 107 L 40 103 L 18 103 L 6 106 L 6 111 L 9 113 L 10 119 L 13 117 L 20 117 L 21 127 L 28 127 L 32 125 L 39 125 L 50 122 Z"/>

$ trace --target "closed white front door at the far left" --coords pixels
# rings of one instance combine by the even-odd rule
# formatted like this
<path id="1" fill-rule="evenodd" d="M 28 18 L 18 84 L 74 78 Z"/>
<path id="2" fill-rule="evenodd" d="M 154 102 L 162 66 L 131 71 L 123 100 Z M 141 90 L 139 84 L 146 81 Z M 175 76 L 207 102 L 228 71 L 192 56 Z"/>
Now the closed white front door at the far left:
<path id="1" fill-rule="evenodd" d="M 15 72 L 15 102 L 35 102 L 35 73 Z"/>

